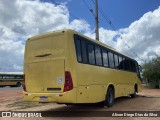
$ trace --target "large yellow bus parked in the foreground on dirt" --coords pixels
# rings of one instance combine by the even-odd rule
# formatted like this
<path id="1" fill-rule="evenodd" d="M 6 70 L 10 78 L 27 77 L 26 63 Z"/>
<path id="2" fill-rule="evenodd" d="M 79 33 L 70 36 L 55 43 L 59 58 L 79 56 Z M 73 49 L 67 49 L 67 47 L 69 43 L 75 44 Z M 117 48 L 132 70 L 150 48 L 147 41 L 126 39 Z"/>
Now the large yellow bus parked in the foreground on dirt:
<path id="1" fill-rule="evenodd" d="M 115 98 L 134 98 L 141 89 L 134 59 L 73 30 L 29 38 L 24 74 L 25 101 L 110 107 Z"/>

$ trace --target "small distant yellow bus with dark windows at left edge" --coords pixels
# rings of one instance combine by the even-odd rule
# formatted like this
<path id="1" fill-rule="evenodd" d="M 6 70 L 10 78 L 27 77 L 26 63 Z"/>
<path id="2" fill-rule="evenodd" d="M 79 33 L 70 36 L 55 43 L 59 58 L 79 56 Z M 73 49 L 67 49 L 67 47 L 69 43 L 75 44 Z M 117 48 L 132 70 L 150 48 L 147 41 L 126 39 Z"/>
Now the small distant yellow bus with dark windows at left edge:
<path id="1" fill-rule="evenodd" d="M 23 83 L 22 74 L 0 73 L 0 87 L 20 87 Z"/>

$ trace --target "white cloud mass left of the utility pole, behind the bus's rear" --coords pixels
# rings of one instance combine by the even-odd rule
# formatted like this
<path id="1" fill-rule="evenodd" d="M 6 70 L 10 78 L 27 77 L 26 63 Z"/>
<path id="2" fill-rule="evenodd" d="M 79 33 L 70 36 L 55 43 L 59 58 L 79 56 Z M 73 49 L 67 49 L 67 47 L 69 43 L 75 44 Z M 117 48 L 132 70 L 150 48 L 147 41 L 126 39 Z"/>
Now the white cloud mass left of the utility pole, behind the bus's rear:
<path id="1" fill-rule="evenodd" d="M 69 21 L 66 4 L 0 1 L 0 71 L 22 71 L 25 40 L 30 36 L 67 28 L 83 33 L 90 31 L 85 20 Z"/>

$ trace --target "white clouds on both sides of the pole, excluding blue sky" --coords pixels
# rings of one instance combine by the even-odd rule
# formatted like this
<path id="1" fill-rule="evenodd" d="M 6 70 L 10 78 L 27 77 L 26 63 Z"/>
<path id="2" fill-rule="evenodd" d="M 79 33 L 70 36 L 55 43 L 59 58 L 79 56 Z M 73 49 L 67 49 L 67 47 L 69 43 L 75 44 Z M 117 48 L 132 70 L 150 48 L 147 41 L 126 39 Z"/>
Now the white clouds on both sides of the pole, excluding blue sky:
<path id="1" fill-rule="evenodd" d="M 0 1 L 0 72 L 22 71 L 25 40 L 30 36 L 71 28 L 95 38 L 94 30 L 84 19 L 69 21 L 66 4 L 40 0 Z M 142 59 L 160 54 L 159 19 L 160 8 L 144 14 L 128 28 L 112 31 L 101 27 L 100 41 L 142 62 L 131 51 Z"/>

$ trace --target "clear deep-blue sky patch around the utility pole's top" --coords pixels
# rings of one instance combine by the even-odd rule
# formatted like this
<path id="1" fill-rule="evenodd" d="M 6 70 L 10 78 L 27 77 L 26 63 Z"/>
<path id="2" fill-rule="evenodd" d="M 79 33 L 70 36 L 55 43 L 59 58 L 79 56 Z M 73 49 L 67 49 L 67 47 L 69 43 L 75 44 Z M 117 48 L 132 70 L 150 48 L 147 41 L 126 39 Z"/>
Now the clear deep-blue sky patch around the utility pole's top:
<path id="1" fill-rule="evenodd" d="M 50 2 L 53 0 L 50 0 Z M 59 1 L 59 0 L 57 0 Z M 81 2 L 80 2 L 81 1 Z M 85 19 L 94 27 L 94 16 L 86 7 L 86 1 L 90 9 L 95 11 L 95 5 L 92 0 L 71 0 L 67 7 L 69 12 L 75 16 Z M 93 0 L 95 1 L 95 0 Z M 56 3 L 56 0 L 54 0 Z M 153 11 L 160 6 L 159 0 L 98 0 L 99 9 L 102 9 L 105 16 L 107 16 L 115 25 L 116 29 L 126 28 L 135 20 L 138 20 L 146 12 Z M 100 26 L 111 29 L 108 22 L 99 13 Z"/>

